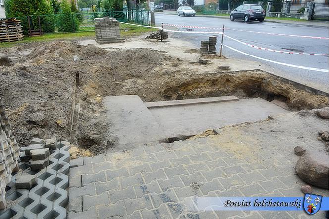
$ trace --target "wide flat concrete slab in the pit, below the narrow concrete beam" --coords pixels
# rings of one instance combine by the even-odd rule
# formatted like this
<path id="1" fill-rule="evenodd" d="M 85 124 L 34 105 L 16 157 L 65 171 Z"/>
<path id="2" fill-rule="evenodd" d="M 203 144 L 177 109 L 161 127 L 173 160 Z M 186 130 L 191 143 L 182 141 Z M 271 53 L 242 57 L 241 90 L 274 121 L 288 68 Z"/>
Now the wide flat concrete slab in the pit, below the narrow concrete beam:
<path id="1" fill-rule="evenodd" d="M 149 109 L 166 137 L 195 135 L 206 129 L 266 119 L 287 110 L 261 98 Z"/>

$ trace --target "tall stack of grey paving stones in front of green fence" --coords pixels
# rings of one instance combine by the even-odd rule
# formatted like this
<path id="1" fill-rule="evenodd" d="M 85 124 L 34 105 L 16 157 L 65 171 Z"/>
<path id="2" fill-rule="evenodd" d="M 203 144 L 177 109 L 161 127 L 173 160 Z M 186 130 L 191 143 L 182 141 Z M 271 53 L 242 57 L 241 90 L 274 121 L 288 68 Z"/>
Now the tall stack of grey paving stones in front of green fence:
<path id="1" fill-rule="evenodd" d="M 115 18 L 95 18 L 95 35 L 99 44 L 123 42 L 120 37 L 119 23 Z"/>

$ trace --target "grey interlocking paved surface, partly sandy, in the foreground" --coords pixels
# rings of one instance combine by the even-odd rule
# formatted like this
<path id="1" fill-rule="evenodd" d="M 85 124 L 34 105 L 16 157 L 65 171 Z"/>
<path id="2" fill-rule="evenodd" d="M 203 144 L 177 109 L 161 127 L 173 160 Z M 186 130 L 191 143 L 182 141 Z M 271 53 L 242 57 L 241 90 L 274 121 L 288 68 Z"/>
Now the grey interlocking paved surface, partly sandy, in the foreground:
<path id="1" fill-rule="evenodd" d="M 185 204 L 193 196 L 304 196 L 294 147 L 324 151 L 317 132 L 327 128 L 328 120 L 288 113 L 214 136 L 73 160 L 68 218 L 307 218 L 303 211 L 189 212 Z"/>

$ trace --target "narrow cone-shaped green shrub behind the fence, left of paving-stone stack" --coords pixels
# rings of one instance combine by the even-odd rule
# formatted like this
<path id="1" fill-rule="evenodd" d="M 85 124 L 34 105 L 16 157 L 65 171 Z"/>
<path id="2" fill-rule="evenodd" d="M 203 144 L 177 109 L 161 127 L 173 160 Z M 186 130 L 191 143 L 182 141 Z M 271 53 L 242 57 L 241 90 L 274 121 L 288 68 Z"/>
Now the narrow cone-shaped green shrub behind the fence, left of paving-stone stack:
<path id="1" fill-rule="evenodd" d="M 71 11 L 71 5 L 63 0 L 60 3 L 60 14 L 57 21 L 59 32 L 74 32 L 79 30 L 79 20 Z"/>

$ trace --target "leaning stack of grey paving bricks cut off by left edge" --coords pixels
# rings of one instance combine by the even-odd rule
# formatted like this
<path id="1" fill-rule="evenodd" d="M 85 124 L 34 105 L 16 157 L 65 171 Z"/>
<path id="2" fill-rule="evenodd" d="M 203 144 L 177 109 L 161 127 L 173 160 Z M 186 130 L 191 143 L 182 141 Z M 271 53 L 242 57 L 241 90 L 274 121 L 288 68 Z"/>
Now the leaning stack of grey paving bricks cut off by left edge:
<path id="1" fill-rule="evenodd" d="M 7 205 L 5 188 L 11 180 L 11 174 L 19 169 L 19 155 L 18 144 L 11 134 L 8 116 L 0 98 L 0 209 Z"/>

